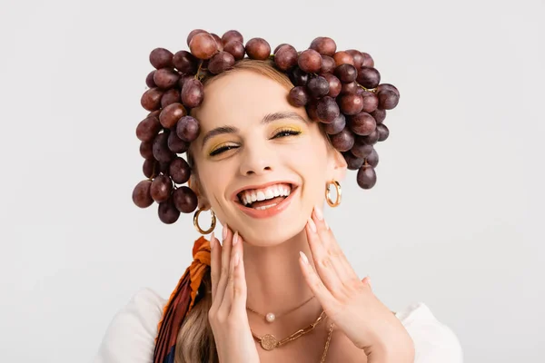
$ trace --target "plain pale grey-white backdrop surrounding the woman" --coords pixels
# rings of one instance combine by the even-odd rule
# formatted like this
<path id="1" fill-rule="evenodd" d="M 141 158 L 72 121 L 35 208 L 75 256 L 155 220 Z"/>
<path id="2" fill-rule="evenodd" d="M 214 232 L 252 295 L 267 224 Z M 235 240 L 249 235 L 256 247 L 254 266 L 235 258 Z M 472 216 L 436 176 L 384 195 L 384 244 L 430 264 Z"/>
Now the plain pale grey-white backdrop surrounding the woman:
<path id="1" fill-rule="evenodd" d="M 217 4 L 213 4 L 217 3 Z M 261 9 L 258 8 L 261 7 Z M 542 1 L 2 1 L 0 361 L 88 362 L 198 237 L 131 201 L 148 55 L 194 28 L 372 54 L 401 91 L 371 191 L 327 210 L 393 310 L 425 302 L 467 362 L 543 361 Z"/>

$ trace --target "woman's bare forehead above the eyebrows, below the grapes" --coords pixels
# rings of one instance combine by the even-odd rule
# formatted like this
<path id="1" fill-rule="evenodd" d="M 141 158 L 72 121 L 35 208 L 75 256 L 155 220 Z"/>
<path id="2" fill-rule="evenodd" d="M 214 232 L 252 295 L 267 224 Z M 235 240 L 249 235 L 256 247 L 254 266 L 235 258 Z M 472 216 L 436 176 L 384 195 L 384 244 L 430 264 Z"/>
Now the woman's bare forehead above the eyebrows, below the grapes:
<path id="1" fill-rule="evenodd" d="M 253 71 L 234 71 L 205 87 L 203 104 L 197 110 L 203 130 L 230 124 L 259 122 L 263 115 L 281 111 L 301 114 L 287 101 L 289 90 L 271 78 Z"/>

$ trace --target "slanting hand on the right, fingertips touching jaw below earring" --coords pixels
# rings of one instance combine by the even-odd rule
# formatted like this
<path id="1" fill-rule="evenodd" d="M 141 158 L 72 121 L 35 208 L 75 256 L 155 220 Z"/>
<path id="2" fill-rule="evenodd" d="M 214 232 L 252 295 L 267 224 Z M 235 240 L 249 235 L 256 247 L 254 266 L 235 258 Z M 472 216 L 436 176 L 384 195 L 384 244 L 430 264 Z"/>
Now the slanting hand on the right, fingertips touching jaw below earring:
<path id="1" fill-rule="evenodd" d="M 365 351 L 369 362 L 412 363 L 409 333 L 373 294 L 369 278 L 360 280 L 352 269 L 319 208 L 314 208 L 306 233 L 316 270 L 301 252 L 302 273 L 335 326 Z"/>

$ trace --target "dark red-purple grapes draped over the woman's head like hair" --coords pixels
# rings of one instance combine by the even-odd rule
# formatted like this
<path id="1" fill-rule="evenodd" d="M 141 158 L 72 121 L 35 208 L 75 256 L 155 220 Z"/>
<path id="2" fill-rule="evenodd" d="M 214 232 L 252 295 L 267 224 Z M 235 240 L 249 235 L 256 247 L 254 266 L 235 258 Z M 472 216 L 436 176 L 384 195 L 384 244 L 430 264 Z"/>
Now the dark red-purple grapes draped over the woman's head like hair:
<path id="1" fill-rule="evenodd" d="M 375 185 L 379 162 L 375 146 L 390 134 L 384 124 L 386 111 L 397 106 L 400 93 L 394 85 L 381 83 L 370 54 L 340 51 L 325 36 L 315 38 L 302 52 L 280 44 L 271 54 L 266 40 L 256 37 L 244 43 L 236 30 L 220 37 L 195 29 L 187 36 L 187 45 L 189 51 L 173 54 L 155 48 L 149 56 L 154 70 L 146 76 L 148 88 L 141 98 L 149 113 L 136 127 L 147 178 L 133 191 L 138 207 L 157 202 L 159 219 L 166 224 L 197 208 L 196 194 L 183 185 L 191 167 L 180 156 L 200 132 L 191 110 L 203 103 L 203 79 L 222 74 L 243 59 L 270 62 L 286 74 L 293 83 L 288 102 L 305 107 L 309 117 L 321 124 L 348 168 L 358 171 L 362 189 Z"/>

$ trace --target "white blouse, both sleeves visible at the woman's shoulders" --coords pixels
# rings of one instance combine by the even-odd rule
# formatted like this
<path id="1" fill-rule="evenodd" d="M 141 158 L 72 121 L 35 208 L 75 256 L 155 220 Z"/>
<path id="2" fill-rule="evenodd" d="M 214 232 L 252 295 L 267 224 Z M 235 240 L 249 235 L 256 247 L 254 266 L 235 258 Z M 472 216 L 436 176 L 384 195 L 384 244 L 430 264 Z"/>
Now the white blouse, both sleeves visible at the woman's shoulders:
<path id="1" fill-rule="evenodd" d="M 166 300 L 152 289 L 138 291 L 114 316 L 94 358 L 94 363 L 151 363 L 157 324 Z M 411 335 L 415 363 L 462 363 L 460 341 L 452 330 L 435 319 L 423 303 L 414 303 L 395 316 Z"/>

